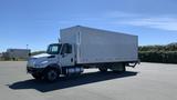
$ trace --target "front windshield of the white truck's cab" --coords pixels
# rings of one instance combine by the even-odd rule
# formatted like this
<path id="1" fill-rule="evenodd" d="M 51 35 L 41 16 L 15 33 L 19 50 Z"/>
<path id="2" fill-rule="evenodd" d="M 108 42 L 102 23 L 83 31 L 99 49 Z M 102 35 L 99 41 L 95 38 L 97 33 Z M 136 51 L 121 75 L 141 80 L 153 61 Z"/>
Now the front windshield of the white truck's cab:
<path id="1" fill-rule="evenodd" d="M 61 44 L 50 44 L 48 47 L 46 53 L 49 54 L 58 54 L 60 52 Z"/>

